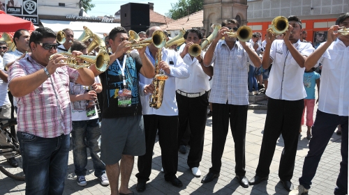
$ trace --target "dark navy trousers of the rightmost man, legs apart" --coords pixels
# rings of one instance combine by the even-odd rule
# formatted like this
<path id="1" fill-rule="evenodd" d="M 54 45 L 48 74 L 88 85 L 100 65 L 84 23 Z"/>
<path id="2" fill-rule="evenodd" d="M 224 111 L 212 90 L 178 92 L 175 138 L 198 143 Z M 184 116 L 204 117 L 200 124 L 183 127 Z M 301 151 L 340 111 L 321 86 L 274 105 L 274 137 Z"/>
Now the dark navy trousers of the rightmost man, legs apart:
<path id="1" fill-rule="evenodd" d="M 304 159 L 302 177 L 299 178 L 299 184 L 306 189 L 310 189 L 311 180 L 313 180 L 316 169 L 325 151 L 329 139 L 331 139 L 337 125 L 342 127 L 341 155 L 339 176 L 336 182 L 334 194 L 348 194 L 348 116 L 338 116 L 327 114 L 318 110 L 316 112 L 315 122 L 311 127 L 313 137 L 309 142 L 309 152 Z M 338 151 L 339 153 L 339 151 Z"/>

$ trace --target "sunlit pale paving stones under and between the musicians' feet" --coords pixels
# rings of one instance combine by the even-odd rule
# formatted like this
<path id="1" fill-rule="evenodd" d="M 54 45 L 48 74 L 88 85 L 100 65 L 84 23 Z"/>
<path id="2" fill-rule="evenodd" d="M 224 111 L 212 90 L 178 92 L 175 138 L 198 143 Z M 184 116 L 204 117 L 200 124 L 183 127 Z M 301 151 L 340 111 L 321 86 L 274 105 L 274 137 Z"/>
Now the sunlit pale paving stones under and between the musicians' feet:
<path id="1" fill-rule="evenodd" d="M 315 111 L 314 109 L 314 118 Z M 255 169 L 258 165 L 260 145 L 262 143 L 262 133 L 265 124 L 265 110 L 248 110 L 247 130 L 246 130 L 246 177 L 248 179 L 255 175 Z M 205 131 L 205 146 L 200 164 L 202 177 L 205 176 L 209 167 L 211 167 L 211 139 L 212 139 L 212 119 L 207 119 Z M 292 183 L 298 185 L 298 178 L 302 174 L 304 157 L 308 152 L 308 143 L 306 139 L 306 126 L 302 127 L 302 135 L 299 136 L 297 157 L 295 162 L 295 171 Z M 336 178 L 339 174 L 339 162 L 341 162 L 341 137 L 335 132 L 329 141 L 325 153 L 322 155 L 318 172 L 313 179 L 313 185 L 309 194 L 333 194 L 336 187 Z M 239 186 L 235 179 L 235 148 L 231 133 L 228 133 L 225 143 L 225 150 L 222 158 L 221 176 L 207 184 L 201 183 L 201 178 L 195 178 L 186 164 L 187 155 L 179 153 L 179 164 L 177 177 L 183 182 L 183 187 L 173 187 L 169 182 L 163 179 L 161 173 L 161 149 L 156 139 L 153 156 L 153 166 L 147 190 L 138 194 L 288 194 L 279 182 L 278 169 L 283 149 L 283 139 L 276 143 L 274 159 L 270 167 L 269 180 L 261 182 L 259 185 L 243 188 Z M 187 148 L 190 150 L 190 147 Z M 137 178 L 137 157 L 135 157 L 135 166 L 129 186 L 136 192 L 135 185 Z M 70 149 L 68 161 L 68 173 L 66 176 L 64 194 L 110 194 L 110 187 L 103 187 L 94 176 L 93 164 L 89 157 L 87 165 L 87 186 L 80 187 L 76 184 L 76 176 L 73 165 L 73 152 Z M 25 194 L 25 183 L 7 178 L 0 173 L 0 194 Z"/>

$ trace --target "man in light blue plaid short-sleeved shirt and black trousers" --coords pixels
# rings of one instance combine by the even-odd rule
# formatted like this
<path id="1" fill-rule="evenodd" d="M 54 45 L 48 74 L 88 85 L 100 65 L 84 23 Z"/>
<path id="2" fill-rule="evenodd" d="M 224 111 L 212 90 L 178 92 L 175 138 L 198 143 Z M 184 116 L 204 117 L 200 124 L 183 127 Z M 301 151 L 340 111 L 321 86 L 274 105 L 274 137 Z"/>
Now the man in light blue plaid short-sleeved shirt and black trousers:
<path id="1" fill-rule="evenodd" d="M 201 180 L 211 182 L 219 177 L 228 127 L 235 142 L 235 174 L 242 187 L 248 187 L 245 170 L 245 137 L 248 109 L 248 65 L 260 67 L 260 58 L 249 42 L 229 37 L 226 31 L 237 31 L 237 20 L 224 20 L 205 54 L 204 65 L 214 63 L 214 77 L 209 95 L 212 102 L 212 166 Z M 221 38 L 225 38 L 222 41 Z"/>

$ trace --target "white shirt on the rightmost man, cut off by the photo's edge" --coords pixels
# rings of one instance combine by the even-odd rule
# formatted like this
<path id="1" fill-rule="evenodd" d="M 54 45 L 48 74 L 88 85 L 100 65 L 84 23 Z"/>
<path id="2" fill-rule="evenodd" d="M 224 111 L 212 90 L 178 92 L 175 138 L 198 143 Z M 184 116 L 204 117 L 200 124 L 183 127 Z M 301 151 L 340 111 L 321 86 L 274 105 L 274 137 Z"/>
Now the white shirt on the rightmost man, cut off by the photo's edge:
<path id="1" fill-rule="evenodd" d="M 349 47 L 339 39 L 332 42 L 319 59 L 318 63 L 322 63 L 318 105 L 320 111 L 349 116 L 348 62 Z"/>

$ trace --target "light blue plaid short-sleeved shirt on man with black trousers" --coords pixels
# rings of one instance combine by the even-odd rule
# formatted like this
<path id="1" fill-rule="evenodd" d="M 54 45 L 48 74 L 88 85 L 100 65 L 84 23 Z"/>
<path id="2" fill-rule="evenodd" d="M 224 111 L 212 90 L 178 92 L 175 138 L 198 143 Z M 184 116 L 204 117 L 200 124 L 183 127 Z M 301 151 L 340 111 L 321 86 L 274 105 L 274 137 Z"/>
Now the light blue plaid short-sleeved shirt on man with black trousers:
<path id="1" fill-rule="evenodd" d="M 252 49 L 252 45 L 246 42 Z M 218 42 L 211 63 L 214 63 L 209 102 L 218 104 L 248 104 L 248 65 L 251 61 L 239 41 L 230 50 L 225 40 Z M 253 65 L 253 64 L 251 64 Z"/>

